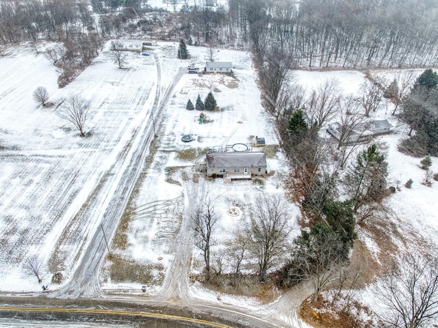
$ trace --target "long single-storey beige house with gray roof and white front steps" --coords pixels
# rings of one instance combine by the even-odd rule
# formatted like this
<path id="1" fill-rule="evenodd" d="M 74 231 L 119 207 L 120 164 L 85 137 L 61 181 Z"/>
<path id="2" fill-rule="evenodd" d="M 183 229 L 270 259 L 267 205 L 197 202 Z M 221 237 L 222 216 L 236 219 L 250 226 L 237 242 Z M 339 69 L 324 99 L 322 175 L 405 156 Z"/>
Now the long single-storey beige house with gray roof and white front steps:
<path id="1" fill-rule="evenodd" d="M 208 177 L 231 179 L 250 179 L 253 175 L 266 174 L 266 155 L 255 151 L 231 151 L 207 153 L 205 173 Z"/>

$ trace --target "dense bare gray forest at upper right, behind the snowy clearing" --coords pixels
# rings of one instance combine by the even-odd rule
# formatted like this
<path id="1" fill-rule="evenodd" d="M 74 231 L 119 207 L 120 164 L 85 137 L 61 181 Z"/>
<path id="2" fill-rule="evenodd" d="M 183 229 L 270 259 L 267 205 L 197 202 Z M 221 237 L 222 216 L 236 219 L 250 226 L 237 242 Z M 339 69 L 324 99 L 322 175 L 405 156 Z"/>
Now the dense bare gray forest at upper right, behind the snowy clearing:
<path id="1" fill-rule="evenodd" d="M 291 50 L 299 66 L 406 67 L 438 62 L 436 1 L 231 2 L 242 8 L 233 24 L 249 26 L 261 57 L 275 45 Z M 242 25 L 242 19 L 248 24 Z"/>

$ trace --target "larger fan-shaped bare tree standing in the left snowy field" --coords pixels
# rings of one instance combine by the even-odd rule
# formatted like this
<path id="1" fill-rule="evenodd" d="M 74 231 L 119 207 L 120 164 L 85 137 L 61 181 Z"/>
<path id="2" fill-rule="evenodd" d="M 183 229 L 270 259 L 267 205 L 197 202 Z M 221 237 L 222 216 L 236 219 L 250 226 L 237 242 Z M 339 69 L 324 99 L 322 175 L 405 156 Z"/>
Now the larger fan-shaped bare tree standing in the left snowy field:
<path id="1" fill-rule="evenodd" d="M 64 99 L 57 110 L 60 117 L 77 127 L 81 137 L 85 137 L 84 128 L 89 112 L 90 101 L 83 99 L 80 94 L 73 94 Z"/>

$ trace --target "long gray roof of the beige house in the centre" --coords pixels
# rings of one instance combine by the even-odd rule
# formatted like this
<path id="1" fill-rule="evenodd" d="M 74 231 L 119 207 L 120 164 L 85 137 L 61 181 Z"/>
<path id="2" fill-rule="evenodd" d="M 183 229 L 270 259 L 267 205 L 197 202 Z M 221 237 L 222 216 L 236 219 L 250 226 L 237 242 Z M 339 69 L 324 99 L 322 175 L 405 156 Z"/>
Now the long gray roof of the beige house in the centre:
<path id="1" fill-rule="evenodd" d="M 255 151 L 207 153 L 207 168 L 266 167 L 266 155 Z"/>

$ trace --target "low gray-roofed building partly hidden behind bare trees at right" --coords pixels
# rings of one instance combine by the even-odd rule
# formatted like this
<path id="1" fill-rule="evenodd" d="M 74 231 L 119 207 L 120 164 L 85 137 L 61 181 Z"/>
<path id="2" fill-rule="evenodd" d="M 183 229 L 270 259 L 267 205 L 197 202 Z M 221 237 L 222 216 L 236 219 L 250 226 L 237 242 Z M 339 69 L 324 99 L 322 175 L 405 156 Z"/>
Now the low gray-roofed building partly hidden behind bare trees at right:
<path id="1" fill-rule="evenodd" d="M 327 129 L 329 134 L 337 140 L 341 138 L 342 125 L 338 122 L 329 124 Z M 370 140 L 378 134 L 389 134 L 392 131 L 392 125 L 387 120 L 374 120 L 358 124 L 348 136 L 348 142 L 364 142 Z"/>

